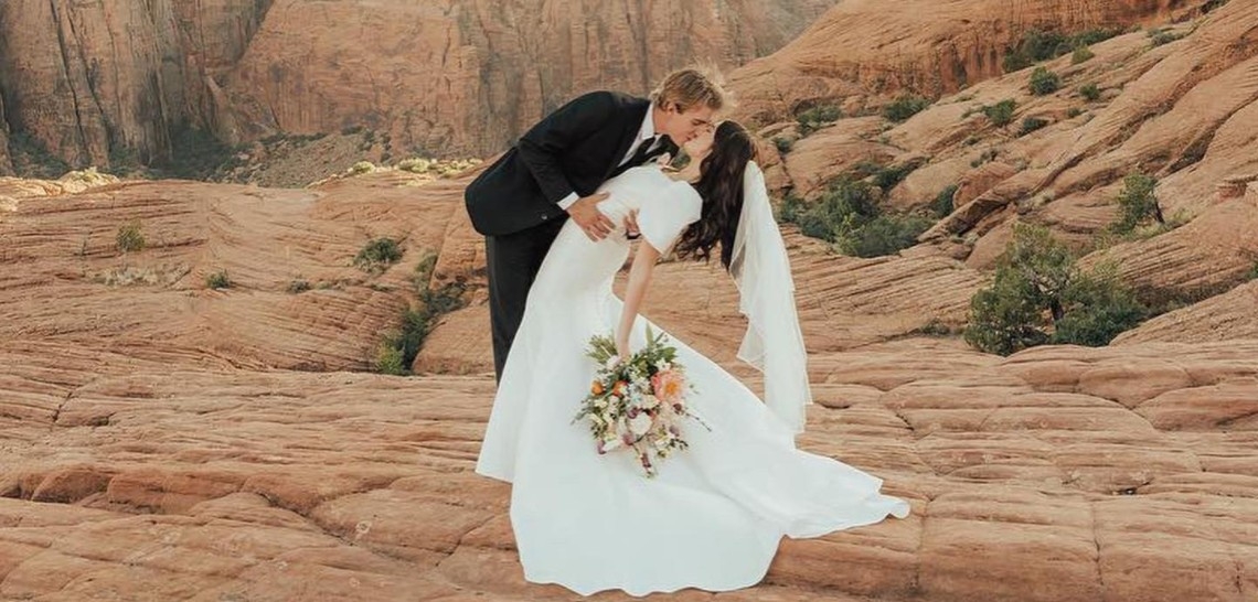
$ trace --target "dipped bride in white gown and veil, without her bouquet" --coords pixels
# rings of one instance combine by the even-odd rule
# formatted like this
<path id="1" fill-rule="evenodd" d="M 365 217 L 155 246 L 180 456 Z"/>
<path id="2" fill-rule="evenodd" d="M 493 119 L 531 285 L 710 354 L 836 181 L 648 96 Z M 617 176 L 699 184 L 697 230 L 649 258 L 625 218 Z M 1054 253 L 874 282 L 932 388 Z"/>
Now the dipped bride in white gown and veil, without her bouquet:
<path id="1" fill-rule="evenodd" d="M 511 523 L 531 582 L 581 594 L 737 589 L 764 578 L 782 535 L 908 515 L 879 493 L 881 479 L 795 449 L 810 402 L 804 344 L 751 137 L 726 121 L 686 151 L 687 170 L 635 167 L 603 187 L 600 210 L 616 222 L 635 214 L 643 238 L 623 303 L 611 292 L 629 254 L 623 227 L 594 243 L 566 224 L 528 293 L 477 473 L 513 484 Z M 586 344 L 614 332 L 621 357 L 642 347 L 649 322 L 638 308 L 657 260 L 669 249 L 707 260 L 717 244 L 750 322 L 738 357 L 765 371 L 765 402 L 669 338 L 694 386 L 687 403 L 711 429 L 692 422 L 689 449 L 648 480 L 635 456 L 599 455 L 589 429 L 572 424 L 598 369 Z"/>

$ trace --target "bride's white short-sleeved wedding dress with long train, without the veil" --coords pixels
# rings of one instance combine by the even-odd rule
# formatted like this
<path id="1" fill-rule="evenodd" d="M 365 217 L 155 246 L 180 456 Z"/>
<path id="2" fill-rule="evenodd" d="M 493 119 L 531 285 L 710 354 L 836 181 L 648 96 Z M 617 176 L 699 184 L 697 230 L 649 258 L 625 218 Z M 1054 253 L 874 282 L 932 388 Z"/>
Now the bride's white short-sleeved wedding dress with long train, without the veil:
<path id="1" fill-rule="evenodd" d="M 699 217 L 693 187 L 658 167 L 629 170 L 603 190 L 603 212 L 620 222 L 638 209 L 643 238 L 662 250 Z M 689 449 L 654 479 L 632 454 L 595 452 L 587 426 L 572 417 L 596 369 L 586 344 L 620 319 L 611 283 L 628 253 L 623 231 L 591 243 L 575 224 L 562 227 L 493 402 L 477 473 L 515 484 L 511 523 L 528 581 L 581 594 L 737 589 L 761 581 L 782 535 L 908 514 L 903 500 L 879 494 L 881 479 L 796 450 L 793 429 L 755 393 L 676 338 L 696 388 L 689 406 L 711 431 L 687 422 Z M 638 318 L 633 349 L 647 324 Z"/>

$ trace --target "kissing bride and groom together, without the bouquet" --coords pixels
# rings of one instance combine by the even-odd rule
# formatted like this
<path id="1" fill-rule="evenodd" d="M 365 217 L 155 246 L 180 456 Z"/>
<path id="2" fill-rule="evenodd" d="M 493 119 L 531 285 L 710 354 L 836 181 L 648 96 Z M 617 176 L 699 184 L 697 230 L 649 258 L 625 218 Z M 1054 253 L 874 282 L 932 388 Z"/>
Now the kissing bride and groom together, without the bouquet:
<path id="1" fill-rule="evenodd" d="M 784 535 L 908 514 L 881 479 L 795 447 L 811 393 L 790 263 L 756 145 L 720 119 L 726 106 L 717 77 L 697 68 L 649 98 L 587 93 L 467 189 L 486 236 L 498 378 L 476 470 L 512 484 L 531 582 L 581 594 L 737 589 L 764 578 Z M 655 161 L 679 150 L 684 168 Z M 611 285 L 632 250 L 621 300 Z M 669 254 L 715 255 L 735 279 L 749 320 L 738 357 L 764 371 L 765 400 L 672 339 L 693 387 L 686 403 L 708 429 L 689 429 L 688 449 L 644 479 L 633 455 L 596 454 L 572 416 L 600 368 L 586 356 L 593 336 L 610 333 L 628 358 L 648 327 L 663 332 L 638 310 Z"/>

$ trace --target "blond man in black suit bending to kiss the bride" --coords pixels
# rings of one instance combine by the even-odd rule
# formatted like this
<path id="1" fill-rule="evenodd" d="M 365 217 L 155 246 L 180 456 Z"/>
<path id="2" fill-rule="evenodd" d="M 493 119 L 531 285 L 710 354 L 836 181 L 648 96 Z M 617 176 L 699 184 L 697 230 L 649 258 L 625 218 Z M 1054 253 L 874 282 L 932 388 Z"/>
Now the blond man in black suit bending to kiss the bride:
<path id="1" fill-rule="evenodd" d="M 606 238 L 615 224 L 598 209 L 608 195 L 595 190 L 630 167 L 676 155 L 712 126 L 723 104 L 721 85 L 698 69 L 671 73 L 649 99 L 591 92 L 533 126 L 468 186 L 468 215 L 484 235 L 498 380 L 528 288 L 565 219 L 590 240 Z"/>

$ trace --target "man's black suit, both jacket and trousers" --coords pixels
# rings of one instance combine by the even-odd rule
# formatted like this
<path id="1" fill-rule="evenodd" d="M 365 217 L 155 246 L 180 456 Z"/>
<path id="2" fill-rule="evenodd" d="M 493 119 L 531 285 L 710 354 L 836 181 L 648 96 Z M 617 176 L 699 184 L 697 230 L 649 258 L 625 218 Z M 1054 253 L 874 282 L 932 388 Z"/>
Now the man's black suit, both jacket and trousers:
<path id="1" fill-rule="evenodd" d="M 585 94 L 533 126 L 468 185 L 464 200 L 472 226 L 486 236 L 493 363 L 499 378 L 525 315 L 528 288 L 567 219 L 557 202 L 572 192 L 589 196 L 621 171 L 677 152 L 663 137 L 650 155 L 619 165 L 649 108 L 645 98 Z"/>

